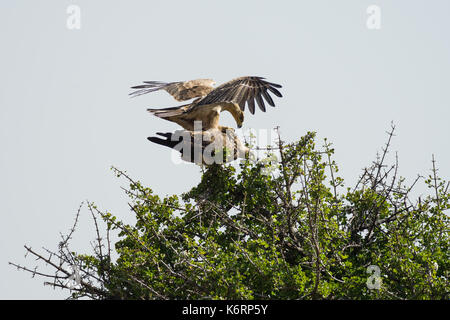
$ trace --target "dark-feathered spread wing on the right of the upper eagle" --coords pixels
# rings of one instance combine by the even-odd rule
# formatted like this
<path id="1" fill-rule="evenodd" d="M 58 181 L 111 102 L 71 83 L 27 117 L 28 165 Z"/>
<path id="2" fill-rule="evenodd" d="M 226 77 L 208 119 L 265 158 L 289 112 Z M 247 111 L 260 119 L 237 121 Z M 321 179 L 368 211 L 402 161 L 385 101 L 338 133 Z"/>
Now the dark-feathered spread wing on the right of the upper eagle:
<path id="1" fill-rule="evenodd" d="M 245 104 L 247 104 L 250 112 L 254 114 L 256 100 L 259 108 L 265 112 L 264 100 L 272 107 L 275 106 L 269 91 L 277 97 L 282 97 L 282 95 L 277 90 L 277 88 L 281 88 L 281 85 L 267 82 L 264 79 L 256 76 L 233 79 L 209 92 L 205 97 L 195 102 L 193 107 L 218 102 L 234 102 L 239 104 L 242 111 L 245 110 Z"/>

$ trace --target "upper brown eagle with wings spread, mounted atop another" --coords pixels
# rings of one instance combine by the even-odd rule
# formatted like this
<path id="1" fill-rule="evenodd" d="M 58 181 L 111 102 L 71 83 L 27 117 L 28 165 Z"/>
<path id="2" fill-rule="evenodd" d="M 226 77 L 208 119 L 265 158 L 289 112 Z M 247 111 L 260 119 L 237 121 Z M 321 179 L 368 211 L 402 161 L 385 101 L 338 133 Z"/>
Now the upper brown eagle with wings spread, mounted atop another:
<path id="1" fill-rule="evenodd" d="M 211 79 L 197 79 L 184 82 L 144 81 L 145 84 L 132 87 L 136 91 L 131 96 L 140 96 L 157 90 L 165 90 L 177 101 L 196 98 L 193 102 L 178 107 L 164 109 L 147 109 L 155 116 L 175 122 L 185 130 L 194 131 L 195 121 L 201 121 L 202 130 L 228 129 L 219 125 L 219 115 L 228 111 L 235 119 L 238 127 L 244 121 L 244 110 L 247 104 L 252 114 L 255 113 L 255 100 L 259 108 L 265 112 L 264 100 L 275 106 L 269 91 L 277 97 L 282 97 L 277 88 L 281 85 L 267 82 L 262 77 L 240 77 L 228 81 L 217 88 Z M 264 100 L 263 100 L 264 98 Z"/>

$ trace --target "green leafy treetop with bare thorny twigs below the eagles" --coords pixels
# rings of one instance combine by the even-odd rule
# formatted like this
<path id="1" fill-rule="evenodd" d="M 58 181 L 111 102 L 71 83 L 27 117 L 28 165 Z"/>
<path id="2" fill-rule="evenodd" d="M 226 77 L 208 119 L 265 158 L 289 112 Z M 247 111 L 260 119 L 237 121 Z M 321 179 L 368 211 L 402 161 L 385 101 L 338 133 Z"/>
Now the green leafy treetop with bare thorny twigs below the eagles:
<path id="1" fill-rule="evenodd" d="M 80 208 L 56 251 L 25 247 L 54 272 L 13 265 L 49 277 L 71 298 L 448 299 L 449 184 L 433 158 L 428 178 L 405 185 L 398 161 L 385 163 L 393 134 L 353 188 L 315 133 L 279 138 L 268 147 L 279 161 L 210 165 L 181 196 L 160 198 L 113 168 L 129 182 L 134 225 L 88 202 L 92 254 L 69 249 Z M 412 199 L 419 181 L 429 195 Z"/>

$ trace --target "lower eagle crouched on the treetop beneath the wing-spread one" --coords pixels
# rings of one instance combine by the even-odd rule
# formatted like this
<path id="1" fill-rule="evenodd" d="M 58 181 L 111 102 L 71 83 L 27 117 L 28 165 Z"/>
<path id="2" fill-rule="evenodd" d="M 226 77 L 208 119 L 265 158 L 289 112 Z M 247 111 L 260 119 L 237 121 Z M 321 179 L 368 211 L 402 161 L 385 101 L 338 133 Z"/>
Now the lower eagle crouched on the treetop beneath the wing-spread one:
<path id="1" fill-rule="evenodd" d="M 225 132 L 215 128 L 206 131 L 177 130 L 156 134 L 165 139 L 147 139 L 179 151 L 184 161 L 196 164 L 223 163 L 250 155 L 250 149 L 242 144 L 233 129 Z"/>

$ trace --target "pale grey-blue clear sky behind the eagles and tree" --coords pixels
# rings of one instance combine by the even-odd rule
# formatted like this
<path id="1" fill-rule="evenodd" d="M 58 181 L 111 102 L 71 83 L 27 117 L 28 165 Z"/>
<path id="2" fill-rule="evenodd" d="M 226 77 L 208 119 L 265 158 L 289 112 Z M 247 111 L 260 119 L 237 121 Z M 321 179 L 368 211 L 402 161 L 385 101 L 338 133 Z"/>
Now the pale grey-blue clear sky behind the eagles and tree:
<path id="1" fill-rule="evenodd" d="M 71 4 L 81 30 L 66 27 Z M 372 4 L 380 30 L 366 27 Z M 199 181 L 198 167 L 174 165 L 146 140 L 177 127 L 145 109 L 177 103 L 130 99 L 142 80 L 265 76 L 284 98 L 247 113 L 244 128 L 279 125 L 287 141 L 317 131 L 352 183 L 394 121 L 400 173 L 426 174 L 434 153 L 448 178 L 449 13 L 446 0 L 2 1 L 0 298 L 66 297 L 7 262 L 34 265 L 24 244 L 54 249 L 81 201 L 133 221 L 109 166 L 160 195 Z M 94 230 L 87 212 L 81 219 L 74 244 L 89 251 Z"/>

